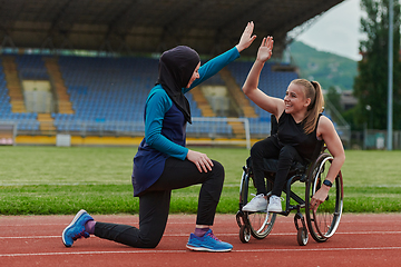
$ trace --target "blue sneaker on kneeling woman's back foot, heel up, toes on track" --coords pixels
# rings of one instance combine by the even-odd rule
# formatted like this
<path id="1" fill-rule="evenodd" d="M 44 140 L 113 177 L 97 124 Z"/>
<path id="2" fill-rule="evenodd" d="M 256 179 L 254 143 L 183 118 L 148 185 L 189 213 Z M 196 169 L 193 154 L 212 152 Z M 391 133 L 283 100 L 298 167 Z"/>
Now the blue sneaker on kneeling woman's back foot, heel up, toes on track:
<path id="1" fill-rule="evenodd" d="M 88 238 L 90 235 L 85 231 L 85 224 L 94 218 L 84 209 L 79 210 L 74 217 L 71 224 L 69 224 L 62 231 L 62 243 L 66 247 L 72 246 L 72 243 L 78 238 Z"/>

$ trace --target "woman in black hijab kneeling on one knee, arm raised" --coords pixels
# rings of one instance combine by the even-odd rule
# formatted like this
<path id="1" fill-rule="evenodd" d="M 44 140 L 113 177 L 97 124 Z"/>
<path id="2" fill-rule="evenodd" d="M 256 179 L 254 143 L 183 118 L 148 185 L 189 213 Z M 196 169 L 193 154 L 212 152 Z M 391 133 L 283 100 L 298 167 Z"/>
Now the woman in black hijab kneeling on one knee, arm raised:
<path id="1" fill-rule="evenodd" d="M 216 238 L 211 229 L 224 182 L 223 166 L 207 155 L 189 150 L 186 123 L 192 123 L 185 93 L 239 57 L 255 40 L 248 22 L 237 46 L 200 67 L 198 53 L 178 46 L 165 51 L 159 75 L 145 105 L 145 138 L 134 157 L 134 196 L 139 197 L 139 228 L 95 221 L 81 209 L 62 231 L 66 247 L 80 237 L 95 235 L 137 248 L 155 248 L 166 228 L 173 189 L 200 184 L 195 231 L 187 248 L 231 251 L 233 246 Z"/>

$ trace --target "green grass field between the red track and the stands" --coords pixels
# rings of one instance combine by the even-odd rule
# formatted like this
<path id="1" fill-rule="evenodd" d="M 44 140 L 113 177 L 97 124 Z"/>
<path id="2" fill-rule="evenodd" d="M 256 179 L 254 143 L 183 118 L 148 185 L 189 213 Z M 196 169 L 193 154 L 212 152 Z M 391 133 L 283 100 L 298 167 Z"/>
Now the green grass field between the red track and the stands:
<path id="1" fill-rule="evenodd" d="M 223 164 L 218 212 L 238 208 L 243 148 L 196 147 Z M 0 214 L 137 214 L 130 175 L 136 148 L 0 147 Z M 342 168 L 345 212 L 401 211 L 401 151 L 346 151 Z M 296 190 L 304 191 L 296 184 Z M 172 212 L 196 212 L 199 186 L 174 190 Z"/>

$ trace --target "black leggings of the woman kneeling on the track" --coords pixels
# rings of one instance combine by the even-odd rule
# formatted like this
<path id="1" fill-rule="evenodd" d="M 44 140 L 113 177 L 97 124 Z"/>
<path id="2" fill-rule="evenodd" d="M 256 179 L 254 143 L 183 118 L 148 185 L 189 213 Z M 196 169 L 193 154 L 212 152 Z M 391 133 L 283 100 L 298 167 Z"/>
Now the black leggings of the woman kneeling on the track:
<path id="1" fill-rule="evenodd" d="M 96 222 L 95 236 L 137 248 L 155 248 L 166 228 L 173 189 L 202 184 L 196 224 L 212 226 L 224 182 L 223 166 L 213 160 L 212 171 L 199 172 L 189 160 L 168 158 L 160 178 L 139 196 L 139 229 Z"/>

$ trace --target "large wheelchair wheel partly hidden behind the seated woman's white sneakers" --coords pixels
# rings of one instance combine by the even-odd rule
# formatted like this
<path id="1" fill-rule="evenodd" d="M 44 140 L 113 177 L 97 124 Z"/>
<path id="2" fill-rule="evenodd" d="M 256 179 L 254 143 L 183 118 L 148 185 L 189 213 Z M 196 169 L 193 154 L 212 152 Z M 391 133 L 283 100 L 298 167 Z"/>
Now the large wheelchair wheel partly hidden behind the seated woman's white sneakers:
<path id="1" fill-rule="evenodd" d="M 245 206 L 256 195 L 256 188 L 252 178 L 244 171 L 241 185 L 241 201 Z M 242 207 L 243 207 L 242 206 Z M 244 224 L 250 229 L 251 235 L 256 239 L 265 238 L 273 228 L 276 214 L 266 211 L 248 212 L 244 211 Z"/>

